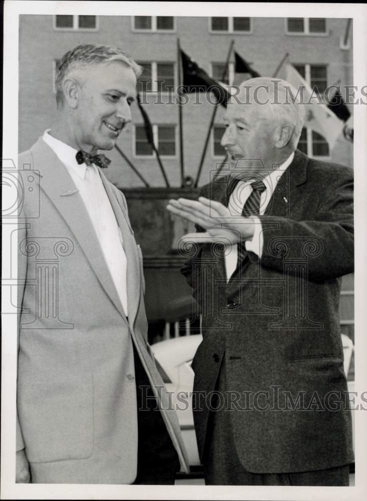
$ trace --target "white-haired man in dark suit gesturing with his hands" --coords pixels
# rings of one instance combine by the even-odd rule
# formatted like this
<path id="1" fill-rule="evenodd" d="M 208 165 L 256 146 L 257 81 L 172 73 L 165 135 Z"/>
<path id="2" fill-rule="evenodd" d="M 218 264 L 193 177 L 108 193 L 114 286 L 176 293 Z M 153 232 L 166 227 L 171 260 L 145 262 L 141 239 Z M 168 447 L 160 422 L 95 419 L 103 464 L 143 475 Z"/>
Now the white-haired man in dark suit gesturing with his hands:
<path id="1" fill-rule="evenodd" d="M 296 150 L 287 82 L 251 79 L 225 113 L 231 165 L 168 209 L 196 224 L 181 272 L 202 315 L 194 423 L 208 484 L 348 485 L 338 305 L 353 271 L 353 176 Z"/>

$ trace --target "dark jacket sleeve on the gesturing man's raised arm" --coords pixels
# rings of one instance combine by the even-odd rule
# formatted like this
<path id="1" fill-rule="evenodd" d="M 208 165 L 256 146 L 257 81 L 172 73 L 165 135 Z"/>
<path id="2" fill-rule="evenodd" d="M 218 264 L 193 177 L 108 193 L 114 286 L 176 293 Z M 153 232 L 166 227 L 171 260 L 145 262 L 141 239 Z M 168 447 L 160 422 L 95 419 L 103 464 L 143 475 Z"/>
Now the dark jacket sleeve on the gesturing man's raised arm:
<path id="1" fill-rule="evenodd" d="M 284 260 L 305 258 L 308 279 L 315 282 L 352 273 L 354 235 L 351 174 L 341 179 L 339 176 L 330 182 L 314 214 L 310 220 L 302 221 L 260 216 L 263 226 L 261 266 L 283 272 Z M 269 229 L 266 229 L 266 224 Z M 251 261 L 258 260 L 255 254 L 248 254 Z"/>

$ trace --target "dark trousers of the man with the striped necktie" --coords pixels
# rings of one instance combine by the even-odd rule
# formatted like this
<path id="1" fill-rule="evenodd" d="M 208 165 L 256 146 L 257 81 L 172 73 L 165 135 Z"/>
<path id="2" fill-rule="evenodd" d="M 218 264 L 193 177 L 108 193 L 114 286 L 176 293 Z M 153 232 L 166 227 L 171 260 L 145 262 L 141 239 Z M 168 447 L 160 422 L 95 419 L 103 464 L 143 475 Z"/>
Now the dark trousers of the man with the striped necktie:
<path id="1" fill-rule="evenodd" d="M 215 390 L 224 394 L 228 388 L 225 383 L 225 362 L 222 366 Z M 203 455 L 206 485 L 315 485 L 348 486 L 349 465 L 337 466 L 316 471 L 289 473 L 251 473 L 240 463 L 233 442 L 230 412 L 221 406 L 216 394 L 210 404 L 208 425 Z M 243 430 L 246 433 L 246 430 Z M 271 450 L 268 451 L 271 454 Z"/>

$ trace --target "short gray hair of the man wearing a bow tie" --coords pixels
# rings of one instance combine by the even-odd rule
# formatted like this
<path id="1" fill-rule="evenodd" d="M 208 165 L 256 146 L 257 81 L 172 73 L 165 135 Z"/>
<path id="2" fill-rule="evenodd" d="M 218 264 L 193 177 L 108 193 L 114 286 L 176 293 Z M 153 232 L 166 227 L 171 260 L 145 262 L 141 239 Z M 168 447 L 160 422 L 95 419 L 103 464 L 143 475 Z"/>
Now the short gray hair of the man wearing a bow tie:
<path id="1" fill-rule="evenodd" d="M 78 45 L 66 52 L 60 59 L 55 75 L 56 103 L 57 107 L 63 104 L 62 83 L 65 77 L 75 68 L 87 67 L 91 64 L 110 63 L 111 61 L 122 61 L 130 67 L 138 78 L 142 73 L 142 68 L 133 61 L 121 49 L 108 47 L 106 45 L 85 44 Z"/>

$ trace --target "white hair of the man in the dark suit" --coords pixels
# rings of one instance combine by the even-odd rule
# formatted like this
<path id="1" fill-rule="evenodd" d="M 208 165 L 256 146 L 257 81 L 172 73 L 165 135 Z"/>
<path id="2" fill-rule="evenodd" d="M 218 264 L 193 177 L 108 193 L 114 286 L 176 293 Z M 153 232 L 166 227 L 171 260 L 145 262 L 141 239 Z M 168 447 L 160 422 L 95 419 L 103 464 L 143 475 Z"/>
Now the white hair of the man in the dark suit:
<path id="1" fill-rule="evenodd" d="M 259 92 L 260 89 L 262 92 Z M 295 149 L 305 119 L 305 111 L 300 93 L 285 80 L 267 77 L 251 78 L 239 85 L 239 93 L 235 98 L 233 97 L 233 102 L 243 102 L 242 99 L 244 97 L 248 98 L 249 90 L 251 90 L 252 97 L 256 92 L 256 96 L 259 99 L 257 104 L 266 106 L 277 124 L 285 124 L 293 127 L 293 133 L 289 142 Z"/>

